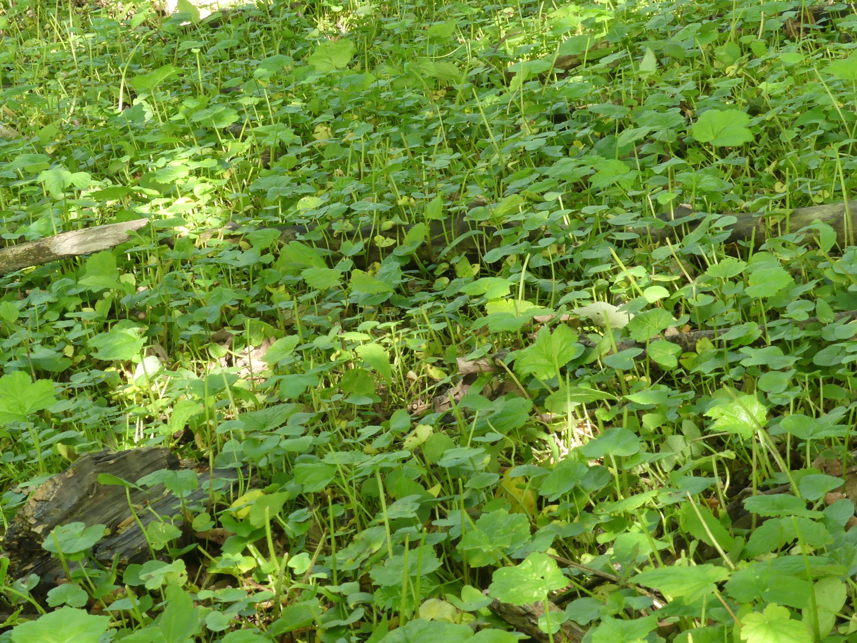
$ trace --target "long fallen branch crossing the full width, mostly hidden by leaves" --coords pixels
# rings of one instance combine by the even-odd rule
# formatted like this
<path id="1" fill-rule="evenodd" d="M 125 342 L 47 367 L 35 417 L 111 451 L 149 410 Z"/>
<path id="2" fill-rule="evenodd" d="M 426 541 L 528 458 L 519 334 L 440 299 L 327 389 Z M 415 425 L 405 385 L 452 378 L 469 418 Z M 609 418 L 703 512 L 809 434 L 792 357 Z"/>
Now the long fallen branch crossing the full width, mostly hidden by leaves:
<path id="1" fill-rule="evenodd" d="M 471 207 L 475 207 L 475 205 L 482 205 L 482 203 L 470 204 Z M 849 217 L 846 217 L 847 210 Z M 678 219 L 691 213 L 687 208 L 679 207 L 676 208 L 673 217 Z M 738 219 L 732 226 L 732 233 L 727 243 L 746 241 L 751 238 L 756 239 L 758 243 L 764 241 L 767 226 L 763 218 L 755 213 L 726 214 Z M 661 219 L 668 220 L 669 216 L 662 215 Z M 848 241 L 847 219 L 850 220 L 850 230 L 854 231 L 854 225 L 857 225 L 857 201 L 850 201 L 848 208 L 844 203 L 799 207 L 789 215 L 788 224 L 791 231 L 797 231 L 806 225 L 820 221 L 830 225 L 836 231 L 836 238 L 840 243 L 846 243 Z M 11 273 L 25 267 L 39 266 L 72 256 L 111 249 L 128 241 L 129 232 L 141 230 L 148 222 L 148 219 L 136 219 L 123 223 L 97 225 L 83 230 L 63 232 L 38 241 L 7 246 L 0 249 L 0 274 Z M 692 230 L 696 225 L 698 222 L 692 222 L 687 227 Z M 784 222 L 781 222 L 781 226 L 784 227 Z M 280 241 L 284 243 L 303 237 L 315 229 L 314 226 L 310 225 L 279 225 L 277 228 L 280 231 Z M 370 264 L 374 261 L 381 261 L 395 248 L 395 245 L 383 247 L 383 244 L 377 243 L 377 237 L 393 239 L 394 242 L 398 242 L 405 237 L 411 228 L 411 225 L 400 225 L 393 226 L 386 231 L 379 231 L 373 225 L 366 225 L 344 235 L 328 235 L 315 244 L 333 252 L 339 252 L 342 244 L 346 241 L 349 243 L 362 241 L 364 244 L 363 253 L 354 257 L 355 262 L 360 265 L 363 263 Z M 665 241 L 669 238 L 680 237 L 683 234 L 683 229 L 686 228 L 668 225 L 660 230 L 650 229 L 650 233 L 653 238 Z M 232 234 L 236 230 L 236 225 L 227 225 L 221 231 L 208 231 L 204 233 L 204 236 L 212 237 L 217 233 Z M 464 253 L 472 259 L 478 260 L 480 253 L 500 245 L 500 239 L 494 237 L 496 230 L 496 225 L 480 225 L 476 221 L 468 219 L 464 213 L 458 213 L 440 221 L 432 221 L 426 234 L 427 243 L 420 245 L 414 255 L 425 264 L 438 261 L 444 253 L 445 256 Z M 537 234 L 538 232 L 534 231 L 532 236 L 536 237 Z M 857 233 L 853 237 L 854 240 L 857 240 Z"/>

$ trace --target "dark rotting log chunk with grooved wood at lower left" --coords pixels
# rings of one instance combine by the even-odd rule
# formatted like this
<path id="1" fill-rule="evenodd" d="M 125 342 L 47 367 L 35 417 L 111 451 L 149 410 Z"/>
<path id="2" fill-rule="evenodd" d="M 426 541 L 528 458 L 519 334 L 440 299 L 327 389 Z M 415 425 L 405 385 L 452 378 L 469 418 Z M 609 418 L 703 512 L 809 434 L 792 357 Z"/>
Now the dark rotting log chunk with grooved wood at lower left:
<path id="1" fill-rule="evenodd" d="M 51 557 L 42 543 L 54 527 L 72 522 L 106 526 L 108 535 L 93 547 L 94 558 L 105 566 L 110 567 L 117 561 L 118 567 L 124 568 L 129 563 L 148 560 L 152 553 L 131 514 L 125 488 L 99 484 L 99 474 L 108 473 L 135 483 L 149 473 L 179 468 L 177 457 L 169 449 L 160 447 L 82 455 L 64 472 L 41 484 L 15 515 L 2 544 L 5 556 L 9 557 L 9 575 L 17 579 L 38 574 L 39 586 L 33 592 L 37 598 L 43 598 L 64 573 L 60 561 Z M 237 477 L 233 469 L 197 475 L 197 489 L 185 496 L 185 506 L 207 502 L 210 491 L 204 483 L 210 479 L 228 481 Z M 162 484 L 148 490 L 131 487 L 130 497 L 135 507 L 143 508 L 137 511 L 137 516 L 144 527 L 158 520 L 155 514 L 167 519 L 175 517 L 173 524 L 179 528 L 184 526 L 181 501 L 167 493 Z"/>

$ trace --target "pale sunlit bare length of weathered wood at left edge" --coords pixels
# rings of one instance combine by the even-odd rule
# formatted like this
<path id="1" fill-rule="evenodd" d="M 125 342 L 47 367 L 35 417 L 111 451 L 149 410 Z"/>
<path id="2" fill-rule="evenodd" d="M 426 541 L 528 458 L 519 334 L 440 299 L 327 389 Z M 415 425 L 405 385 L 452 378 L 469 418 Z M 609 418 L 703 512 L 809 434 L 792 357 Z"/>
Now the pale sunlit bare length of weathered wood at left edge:
<path id="1" fill-rule="evenodd" d="M 0 249 L 0 274 L 114 248 L 129 240 L 129 232 L 140 230 L 148 223 L 149 219 L 135 219 L 123 223 L 96 225 L 93 228 L 62 232 L 54 237 L 7 246 Z"/>

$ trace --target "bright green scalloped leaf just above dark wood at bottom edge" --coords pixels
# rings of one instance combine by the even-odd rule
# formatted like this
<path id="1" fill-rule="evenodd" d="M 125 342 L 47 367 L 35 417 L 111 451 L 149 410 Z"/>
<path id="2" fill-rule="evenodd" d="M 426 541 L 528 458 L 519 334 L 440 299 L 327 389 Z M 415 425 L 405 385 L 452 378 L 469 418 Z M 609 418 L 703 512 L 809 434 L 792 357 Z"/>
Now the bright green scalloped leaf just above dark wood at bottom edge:
<path id="1" fill-rule="evenodd" d="M 543 601 L 548 592 L 562 589 L 568 579 L 547 554 L 533 552 L 515 567 L 494 571 L 488 593 L 501 603 L 524 605 Z"/>

